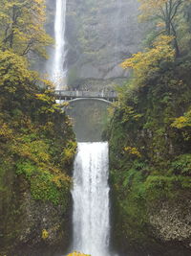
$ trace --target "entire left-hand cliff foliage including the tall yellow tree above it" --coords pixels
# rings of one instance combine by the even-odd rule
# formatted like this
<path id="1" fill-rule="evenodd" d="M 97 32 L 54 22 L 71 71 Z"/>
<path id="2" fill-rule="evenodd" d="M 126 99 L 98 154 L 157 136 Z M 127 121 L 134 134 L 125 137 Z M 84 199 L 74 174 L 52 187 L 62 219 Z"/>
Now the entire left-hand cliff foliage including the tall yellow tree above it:
<path id="1" fill-rule="evenodd" d="M 44 1 L 0 5 L 0 254 L 21 255 L 19 246 L 67 243 L 62 225 L 76 145 L 51 83 L 29 68 L 30 53 L 46 57 L 52 42 Z"/>

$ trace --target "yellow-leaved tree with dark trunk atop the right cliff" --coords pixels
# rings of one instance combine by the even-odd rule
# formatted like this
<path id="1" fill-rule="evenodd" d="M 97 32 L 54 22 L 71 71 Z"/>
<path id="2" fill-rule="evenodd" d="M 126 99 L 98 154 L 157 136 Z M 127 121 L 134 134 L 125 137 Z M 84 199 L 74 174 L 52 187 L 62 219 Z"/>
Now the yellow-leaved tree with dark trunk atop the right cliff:
<path id="1" fill-rule="evenodd" d="M 177 56 L 179 56 L 178 15 L 182 11 L 182 7 L 190 3 L 190 0 L 139 0 L 139 2 L 143 19 L 156 19 L 157 26 L 161 28 L 160 33 L 174 36 L 174 46 Z"/>

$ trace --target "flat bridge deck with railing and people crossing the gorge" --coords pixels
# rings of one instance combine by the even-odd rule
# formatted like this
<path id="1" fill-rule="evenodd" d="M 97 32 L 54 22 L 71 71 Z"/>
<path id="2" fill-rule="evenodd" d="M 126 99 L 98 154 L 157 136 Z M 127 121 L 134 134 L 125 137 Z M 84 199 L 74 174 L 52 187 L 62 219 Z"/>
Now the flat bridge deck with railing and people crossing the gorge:
<path id="1" fill-rule="evenodd" d="M 64 90 L 55 90 L 55 98 L 57 100 L 74 100 L 80 98 L 89 98 L 89 99 L 103 99 L 107 101 L 117 100 L 117 92 L 93 92 L 93 91 L 64 91 Z"/>

